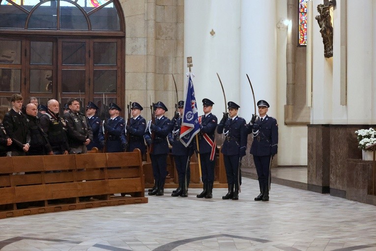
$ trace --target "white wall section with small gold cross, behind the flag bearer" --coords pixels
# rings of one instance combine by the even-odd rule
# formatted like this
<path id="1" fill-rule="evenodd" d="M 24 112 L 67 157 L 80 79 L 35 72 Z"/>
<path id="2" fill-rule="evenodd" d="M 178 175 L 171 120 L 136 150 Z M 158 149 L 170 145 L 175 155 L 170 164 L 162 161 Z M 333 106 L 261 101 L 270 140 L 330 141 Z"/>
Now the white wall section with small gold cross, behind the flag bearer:
<path id="1" fill-rule="evenodd" d="M 227 106 L 216 72 L 224 85 L 227 102 L 240 104 L 240 0 L 185 0 L 184 6 L 184 60 L 193 60 L 199 115 L 202 99 L 209 98 L 214 102 L 212 113 L 220 120 Z M 214 36 L 209 33 L 212 29 Z M 241 108 L 239 115 L 243 116 Z"/>

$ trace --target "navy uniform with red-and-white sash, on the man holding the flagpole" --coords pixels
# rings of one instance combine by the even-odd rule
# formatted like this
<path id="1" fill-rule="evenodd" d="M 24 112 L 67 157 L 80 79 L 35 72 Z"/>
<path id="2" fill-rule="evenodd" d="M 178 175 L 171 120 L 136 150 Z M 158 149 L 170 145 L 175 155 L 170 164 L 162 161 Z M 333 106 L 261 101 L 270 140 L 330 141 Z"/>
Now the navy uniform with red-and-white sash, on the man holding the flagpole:
<path id="1" fill-rule="evenodd" d="M 211 184 L 214 182 L 214 167 L 215 167 L 215 149 L 217 144 L 215 142 L 215 128 L 218 124 L 218 119 L 212 113 L 202 115 L 199 117 L 201 120 L 201 130 L 199 132 L 199 147 L 200 147 L 200 160 L 202 169 L 202 182 L 204 184 Z M 206 135 L 204 135 L 206 134 Z M 208 136 L 208 138 L 206 137 Z M 212 151 L 214 150 L 214 152 Z M 212 158 L 212 160 L 210 160 Z"/>

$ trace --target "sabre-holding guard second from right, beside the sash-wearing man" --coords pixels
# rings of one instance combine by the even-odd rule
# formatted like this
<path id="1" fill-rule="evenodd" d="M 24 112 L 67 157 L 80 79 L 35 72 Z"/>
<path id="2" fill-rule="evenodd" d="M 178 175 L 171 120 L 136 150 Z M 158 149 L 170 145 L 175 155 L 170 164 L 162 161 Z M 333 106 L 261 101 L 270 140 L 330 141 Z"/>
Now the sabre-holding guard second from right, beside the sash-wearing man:
<path id="1" fill-rule="evenodd" d="M 225 162 L 227 184 L 229 192 L 222 199 L 239 199 L 239 187 L 241 185 L 241 158 L 245 156 L 247 149 L 247 127 L 243 118 L 237 116 L 240 108 L 234 102 L 228 102 L 229 113 L 224 113 L 217 127 L 218 134 L 225 135 L 221 153 Z M 229 117 L 230 114 L 230 117 Z"/>

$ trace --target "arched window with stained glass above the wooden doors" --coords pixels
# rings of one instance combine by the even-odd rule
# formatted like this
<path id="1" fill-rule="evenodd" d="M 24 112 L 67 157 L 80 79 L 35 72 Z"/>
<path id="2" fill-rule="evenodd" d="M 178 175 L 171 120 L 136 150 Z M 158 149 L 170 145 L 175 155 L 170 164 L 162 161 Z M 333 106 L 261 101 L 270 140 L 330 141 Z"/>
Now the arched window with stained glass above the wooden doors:
<path id="1" fill-rule="evenodd" d="M 114 0 L 0 0 L 0 8 L 0 29 L 120 31 Z"/>

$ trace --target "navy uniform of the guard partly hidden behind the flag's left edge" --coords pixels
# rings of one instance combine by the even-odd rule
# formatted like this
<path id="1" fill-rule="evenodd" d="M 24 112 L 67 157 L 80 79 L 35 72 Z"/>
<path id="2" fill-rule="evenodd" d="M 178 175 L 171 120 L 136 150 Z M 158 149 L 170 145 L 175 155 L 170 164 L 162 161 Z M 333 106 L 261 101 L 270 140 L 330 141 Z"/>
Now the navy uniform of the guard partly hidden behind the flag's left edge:
<path id="1" fill-rule="evenodd" d="M 188 188 L 189 181 L 191 179 L 191 170 L 189 167 L 189 157 L 193 154 L 193 141 L 188 147 L 185 147 L 180 139 L 180 127 L 181 117 L 176 120 L 173 119 L 171 123 L 174 125 L 173 130 L 169 133 L 169 141 L 172 148 L 172 154 L 174 155 L 174 162 L 179 179 L 179 188 Z M 187 135 L 188 136 L 188 135 Z M 180 191 L 178 191 L 179 193 Z M 179 194 L 180 195 L 180 194 Z M 174 196 L 174 195 L 173 195 Z"/>

